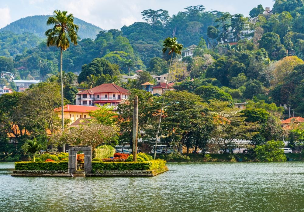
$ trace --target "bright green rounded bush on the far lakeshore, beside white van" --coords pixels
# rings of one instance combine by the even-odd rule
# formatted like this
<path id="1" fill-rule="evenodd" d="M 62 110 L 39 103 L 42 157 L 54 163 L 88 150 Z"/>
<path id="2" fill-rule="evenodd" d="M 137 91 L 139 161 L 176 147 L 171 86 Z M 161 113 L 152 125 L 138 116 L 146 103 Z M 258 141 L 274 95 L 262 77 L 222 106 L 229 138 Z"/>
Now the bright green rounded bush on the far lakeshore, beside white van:
<path id="1" fill-rule="evenodd" d="M 284 150 L 280 149 L 284 147 L 283 141 L 268 141 L 264 145 L 258 145 L 254 149 L 256 158 L 258 161 L 286 161 Z"/>

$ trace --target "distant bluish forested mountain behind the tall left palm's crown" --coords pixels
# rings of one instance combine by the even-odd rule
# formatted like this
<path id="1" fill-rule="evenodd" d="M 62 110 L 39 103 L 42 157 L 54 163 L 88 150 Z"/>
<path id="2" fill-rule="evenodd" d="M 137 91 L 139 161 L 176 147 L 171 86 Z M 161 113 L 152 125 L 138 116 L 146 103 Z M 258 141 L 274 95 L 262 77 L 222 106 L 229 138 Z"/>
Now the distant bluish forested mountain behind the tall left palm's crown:
<path id="1" fill-rule="evenodd" d="M 1 31 L 11 31 L 15 34 L 22 34 L 24 32 L 33 33 L 38 37 L 45 38 L 44 32 L 50 28 L 47 26 L 47 18 L 50 15 L 34 15 L 26 18 L 21 18 L 15 22 L 0 29 Z M 74 23 L 79 26 L 78 35 L 81 39 L 92 38 L 95 39 L 99 31 L 104 29 L 85 22 L 79 18 L 74 18 Z"/>

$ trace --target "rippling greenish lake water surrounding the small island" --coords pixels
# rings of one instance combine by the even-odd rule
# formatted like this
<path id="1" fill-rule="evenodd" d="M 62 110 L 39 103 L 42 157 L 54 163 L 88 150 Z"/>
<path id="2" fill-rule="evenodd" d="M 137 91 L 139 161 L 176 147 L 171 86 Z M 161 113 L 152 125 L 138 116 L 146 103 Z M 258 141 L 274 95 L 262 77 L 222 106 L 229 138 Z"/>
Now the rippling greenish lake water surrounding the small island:
<path id="1" fill-rule="evenodd" d="M 155 177 L 11 177 L 0 211 L 304 211 L 304 162 L 168 163 Z"/>

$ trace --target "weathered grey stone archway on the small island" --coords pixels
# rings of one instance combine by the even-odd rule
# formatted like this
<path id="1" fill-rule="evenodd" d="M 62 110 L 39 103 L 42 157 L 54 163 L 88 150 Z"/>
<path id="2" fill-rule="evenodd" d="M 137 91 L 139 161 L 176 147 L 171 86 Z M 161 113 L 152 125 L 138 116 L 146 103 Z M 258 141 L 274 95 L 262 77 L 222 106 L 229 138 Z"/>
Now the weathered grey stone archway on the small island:
<path id="1" fill-rule="evenodd" d="M 85 154 L 85 172 L 90 173 L 92 171 L 92 146 L 73 146 L 69 148 L 69 166 L 67 173 L 72 174 L 77 170 L 77 152 L 83 151 Z"/>

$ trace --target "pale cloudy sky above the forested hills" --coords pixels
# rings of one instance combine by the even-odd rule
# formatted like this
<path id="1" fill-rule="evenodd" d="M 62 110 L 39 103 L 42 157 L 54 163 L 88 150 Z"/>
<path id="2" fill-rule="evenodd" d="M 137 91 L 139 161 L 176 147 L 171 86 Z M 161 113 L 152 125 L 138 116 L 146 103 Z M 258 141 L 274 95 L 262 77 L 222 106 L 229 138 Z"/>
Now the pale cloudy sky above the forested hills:
<path id="1" fill-rule="evenodd" d="M 168 10 L 170 15 L 185 11 L 190 5 L 203 5 L 206 11 L 218 10 L 231 14 L 249 11 L 257 5 L 272 8 L 272 0 L 1 0 L 0 28 L 20 18 L 32 15 L 51 15 L 54 10 L 66 10 L 74 17 L 92 23 L 102 29 L 120 29 L 142 21 L 141 12 L 146 9 Z"/>

